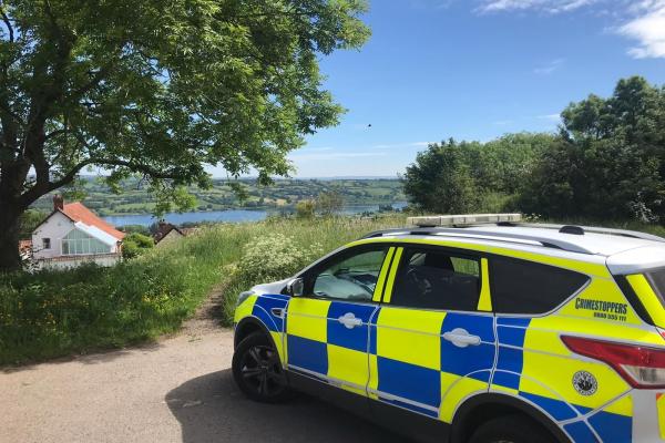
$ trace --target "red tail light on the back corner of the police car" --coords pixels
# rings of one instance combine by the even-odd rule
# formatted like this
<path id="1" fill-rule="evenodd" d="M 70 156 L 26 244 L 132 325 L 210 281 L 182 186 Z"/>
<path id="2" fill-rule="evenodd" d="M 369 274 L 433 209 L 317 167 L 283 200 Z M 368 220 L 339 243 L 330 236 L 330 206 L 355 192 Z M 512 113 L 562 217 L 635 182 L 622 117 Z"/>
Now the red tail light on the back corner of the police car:
<path id="1" fill-rule="evenodd" d="M 610 364 L 633 388 L 665 388 L 665 349 L 563 336 L 573 352 Z"/>

